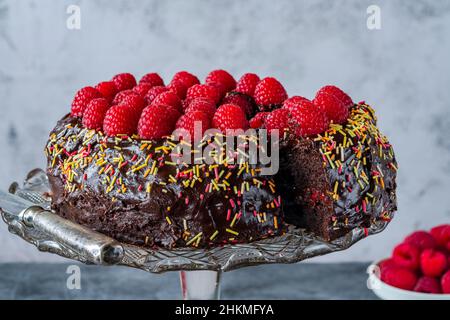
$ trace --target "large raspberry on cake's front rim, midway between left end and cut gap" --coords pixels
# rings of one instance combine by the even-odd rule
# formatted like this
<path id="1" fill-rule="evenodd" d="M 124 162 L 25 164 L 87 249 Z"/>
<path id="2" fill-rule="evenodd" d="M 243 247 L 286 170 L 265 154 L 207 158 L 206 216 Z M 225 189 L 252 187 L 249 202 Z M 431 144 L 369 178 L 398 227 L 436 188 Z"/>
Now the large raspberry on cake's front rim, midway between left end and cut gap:
<path id="1" fill-rule="evenodd" d="M 139 136 L 143 139 L 156 140 L 170 135 L 177 121 L 175 111 L 175 108 L 162 104 L 145 108 L 138 124 Z"/>

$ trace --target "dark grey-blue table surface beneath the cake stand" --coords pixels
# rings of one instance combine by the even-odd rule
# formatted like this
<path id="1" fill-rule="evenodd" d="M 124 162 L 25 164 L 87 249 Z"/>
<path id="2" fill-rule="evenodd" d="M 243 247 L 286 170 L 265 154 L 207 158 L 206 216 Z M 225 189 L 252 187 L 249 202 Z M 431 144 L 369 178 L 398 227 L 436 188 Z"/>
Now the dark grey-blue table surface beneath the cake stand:
<path id="1" fill-rule="evenodd" d="M 70 264 L 0 264 L 0 299 L 180 299 L 178 272 L 78 265 L 81 289 L 67 288 Z M 375 299 L 368 263 L 265 265 L 223 274 L 222 299 Z"/>

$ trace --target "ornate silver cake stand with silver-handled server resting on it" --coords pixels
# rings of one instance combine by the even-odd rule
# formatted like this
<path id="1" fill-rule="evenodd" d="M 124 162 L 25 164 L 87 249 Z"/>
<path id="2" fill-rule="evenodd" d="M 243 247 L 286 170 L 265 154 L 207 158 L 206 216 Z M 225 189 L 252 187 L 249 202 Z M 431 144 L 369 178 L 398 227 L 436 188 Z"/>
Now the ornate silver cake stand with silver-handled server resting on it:
<path id="1" fill-rule="evenodd" d="M 268 263 L 296 263 L 349 248 L 367 235 L 384 230 L 387 222 L 366 231 L 354 229 L 326 242 L 303 229 L 289 227 L 283 236 L 248 244 L 212 249 L 149 249 L 118 242 L 50 210 L 49 184 L 41 169 L 31 171 L 23 185 L 13 183 L 0 191 L 0 211 L 9 232 L 40 251 L 86 264 L 121 265 L 151 273 L 180 271 L 184 299 L 219 299 L 222 272 Z"/>

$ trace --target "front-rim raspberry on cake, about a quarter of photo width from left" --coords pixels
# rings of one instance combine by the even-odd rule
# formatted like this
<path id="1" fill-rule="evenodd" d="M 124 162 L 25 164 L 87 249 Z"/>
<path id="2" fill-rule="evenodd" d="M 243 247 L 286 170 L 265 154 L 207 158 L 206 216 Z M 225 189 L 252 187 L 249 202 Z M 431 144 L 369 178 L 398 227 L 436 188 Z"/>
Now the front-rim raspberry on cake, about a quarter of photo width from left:
<path id="1" fill-rule="evenodd" d="M 108 136 L 132 135 L 136 132 L 137 120 L 135 111 L 129 106 L 121 104 L 112 106 L 106 112 L 103 131 Z"/>

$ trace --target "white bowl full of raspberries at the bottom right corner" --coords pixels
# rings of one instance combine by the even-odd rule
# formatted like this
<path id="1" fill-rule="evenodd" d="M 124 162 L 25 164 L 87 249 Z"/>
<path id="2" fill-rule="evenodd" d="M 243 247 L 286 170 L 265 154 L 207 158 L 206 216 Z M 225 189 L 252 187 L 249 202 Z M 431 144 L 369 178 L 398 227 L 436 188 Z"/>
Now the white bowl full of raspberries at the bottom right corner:
<path id="1" fill-rule="evenodd" d="M 450 300 L 450 224 L 413 232 L 368 271 L 381 299 Z"/>

